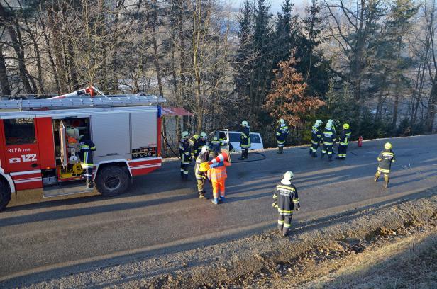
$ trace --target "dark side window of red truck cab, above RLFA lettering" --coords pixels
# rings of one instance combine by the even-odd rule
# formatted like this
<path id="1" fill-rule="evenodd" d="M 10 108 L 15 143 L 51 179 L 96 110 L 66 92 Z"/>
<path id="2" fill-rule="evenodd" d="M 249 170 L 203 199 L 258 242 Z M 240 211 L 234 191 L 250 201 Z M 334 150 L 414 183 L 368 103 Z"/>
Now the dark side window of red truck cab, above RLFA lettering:
<path id="1" fill-rule="evenodd" d="M 35 125 L 33 118 L 14 118 L 3 120 L 6 145 L 34 144 Z"/>

